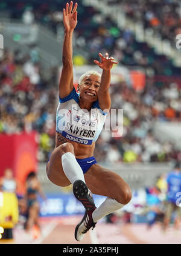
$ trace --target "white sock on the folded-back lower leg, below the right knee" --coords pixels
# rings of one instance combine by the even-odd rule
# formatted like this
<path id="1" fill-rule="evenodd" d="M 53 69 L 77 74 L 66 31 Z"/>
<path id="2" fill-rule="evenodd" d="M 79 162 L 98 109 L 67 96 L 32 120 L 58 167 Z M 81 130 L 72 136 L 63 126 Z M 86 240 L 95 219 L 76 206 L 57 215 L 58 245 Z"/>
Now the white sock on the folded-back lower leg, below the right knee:
<path id="1" fill-rule="evenodd" d="M 115 199 L 107 197 L 106 200 L 92 213 L 94 223 L 103 218 L 104 216 L 118 211 L 125 204 L 118 203 Z"/>

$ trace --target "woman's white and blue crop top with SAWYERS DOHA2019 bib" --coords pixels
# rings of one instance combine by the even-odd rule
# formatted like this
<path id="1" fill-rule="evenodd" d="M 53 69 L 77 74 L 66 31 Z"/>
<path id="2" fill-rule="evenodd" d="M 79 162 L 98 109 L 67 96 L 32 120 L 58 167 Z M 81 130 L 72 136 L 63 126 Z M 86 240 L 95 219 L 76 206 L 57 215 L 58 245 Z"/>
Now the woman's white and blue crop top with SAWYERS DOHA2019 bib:
<path id="1" fill-rule="evenodd" d="M 56 132 L 68 140 L 91 145 L 103 130 L 107 112 L 100 109 L 98 101 L 88 112 L 78 105 L 79 94 L 73 88 L 65 98 L 59 97 L 56 115 Z"/>

